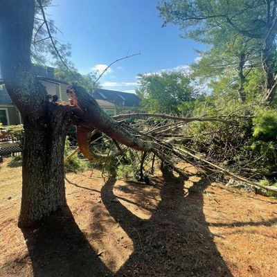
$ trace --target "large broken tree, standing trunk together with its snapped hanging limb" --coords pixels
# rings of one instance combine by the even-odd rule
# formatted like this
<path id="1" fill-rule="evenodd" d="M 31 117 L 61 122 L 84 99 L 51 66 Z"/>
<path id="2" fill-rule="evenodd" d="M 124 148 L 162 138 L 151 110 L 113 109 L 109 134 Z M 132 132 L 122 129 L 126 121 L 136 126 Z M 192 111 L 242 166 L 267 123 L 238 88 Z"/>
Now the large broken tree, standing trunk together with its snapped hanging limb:
<path id="1" fill-rule="evenodd" d="M 44 15 L 42 2 L 38 3 Z M 34 0 L 6 1 L 0 10 L 1 73 L 6 89 L 24 120 L 20 227 L 32 226 L 66 205 L 64 143 L 69 125 L 78 126 L 79 148 L 88 159 L 107 159 L 107 154 L 93 152 L 90 148 L 91 132 L 97 129 L 114 141 L 115 152 L 110 153 L 111 155 L 116 157 L 124 154 L 125 149 L 120 144 L 136 151 L 152 152 L 166 166 L 186 176 L 177 168 L 175 159 L 188 161 L 188 158 L 170 143 L 170 139 L 176 141 L 180 135 L 184 136 L 177 130 L 195 121 L 225 124 L 243 119 L 232 117 L 229 120 L 220 116 L 179 118 L 153 114 L 132 115 L 132 118 L 156 117 L 162 120 L 154 125 L 150 122 L 149 128 L 145 129 L 145 124 L 132 125 L 115 120 L 130 115 L 110 118 L 100 109 L 96 100 L 78 85 L 73 85 L 68 91 L 70 103 L 49 102 L 46 89 L 33 72 L 30 60 L 34 15 Z M 44 25 L 47 26 L 45 16 Z M 51 37 L 50 32 L 49 35 Z"/>

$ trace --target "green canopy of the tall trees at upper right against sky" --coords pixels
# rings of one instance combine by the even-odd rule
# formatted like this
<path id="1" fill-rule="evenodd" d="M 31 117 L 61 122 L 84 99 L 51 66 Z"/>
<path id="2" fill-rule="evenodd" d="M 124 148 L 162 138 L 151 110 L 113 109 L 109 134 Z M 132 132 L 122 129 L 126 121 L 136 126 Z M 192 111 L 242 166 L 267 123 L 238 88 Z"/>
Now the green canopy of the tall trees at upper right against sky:
<path id="1" fill-rule="evenodd" d="M 262 101 L 273 102 L 277 87 L 276 0 L 161 0 L 158 9 L 165 24 L 177 24 L 186 37 L 211 45 L 193 65 L 200 79 L 218 82 L 226 80 L 227 74 L 232 94 L 244 102 L 251 71 L 260 68 L 264 74 Z"/>

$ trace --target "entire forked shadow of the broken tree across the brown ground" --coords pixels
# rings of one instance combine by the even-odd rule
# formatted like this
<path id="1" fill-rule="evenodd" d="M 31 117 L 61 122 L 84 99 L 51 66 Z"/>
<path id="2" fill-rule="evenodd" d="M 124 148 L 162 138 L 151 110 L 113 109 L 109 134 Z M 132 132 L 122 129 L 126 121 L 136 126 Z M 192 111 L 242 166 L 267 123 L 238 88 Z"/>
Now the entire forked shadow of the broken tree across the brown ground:
<path id="1" fill-rule="evenodd" d="M 161 200 L 157 208 L 152 208 L 148 220 L 137 217 L 120 202 L 111 202 L 117 198 L 113 190 L 115 183 L 111 175 L 102 187 L 102 202 L 134 245 L 134 251 L 120 269 L 111 273 L 103 264 L 66 206 L 51 215 L 43 226 L 22 230 L 33 276 L 232 276 L 205 221 L 206 179 L 184 190 L 184 179 L 175 177 L 172 172 L 155 177 L 152 186 L 159 190 Z M 144 185 L 129 182 L 125 188 L 127 193 L 134 193 L 134 202 L 141 200 L 140 186 Z M 148 198 L 156 198 L 157 190 L 147 195 Z M 95 211 L 96 207 L 93 208 Z M 102 213 L 102 210 L 95 212 Z M 101 229 L 102 223 L 97 224 Z M 106 232 L 109 230 L 104 228 L 102 233 Z"/>

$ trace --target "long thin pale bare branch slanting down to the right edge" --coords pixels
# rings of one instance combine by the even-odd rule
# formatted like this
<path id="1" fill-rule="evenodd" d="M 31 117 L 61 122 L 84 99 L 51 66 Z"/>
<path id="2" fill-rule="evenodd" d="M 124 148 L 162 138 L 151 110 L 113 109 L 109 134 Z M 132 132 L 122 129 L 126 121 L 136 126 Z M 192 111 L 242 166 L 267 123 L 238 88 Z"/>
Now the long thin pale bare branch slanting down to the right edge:
<path id="1" fill-rule="evenodd" d="M 254 181 L 249 181 L 248 179 L 245 179 L 244 177 L 241 177 L 239 175 L 235 175 L 234 173 L 229 172 L 229 170 L 226 170 L 224 168 L 221 168 L 220 166 L 215 165 L 214 163 L 211 163 L 211 161 L 207 161 L 206 159 L 202 159 L 200 157 L 197 157 L 195 154 L 190 153 L 187 150 L 180 149 L 180 148 L 178 148 L 178 150 L 181 151 L 181 152 L 184 152 L 185 154 L 187 154 L 190 157 L 193 157 L 194 159 L 197 159 L 198 161 L 202 161 L 203 163 L 208 164 L 212 168 L 215 168 L 215 169 L 219 170 L 220 172 L 224 173 L 227 176 L 233 177 L 233 179 L 235 179 L 235 180 L 243 181 L 244 183 L 247 183 L 251 186 L 258 186 L 258 188 L 263 188 L 265 190 L 269 190 L 271 192 L 277 193 L 277 188 L 274 188 L 274 187 L 271 187 L 271 186 L 262 186 L 261 184 L 258 184 Z"/>

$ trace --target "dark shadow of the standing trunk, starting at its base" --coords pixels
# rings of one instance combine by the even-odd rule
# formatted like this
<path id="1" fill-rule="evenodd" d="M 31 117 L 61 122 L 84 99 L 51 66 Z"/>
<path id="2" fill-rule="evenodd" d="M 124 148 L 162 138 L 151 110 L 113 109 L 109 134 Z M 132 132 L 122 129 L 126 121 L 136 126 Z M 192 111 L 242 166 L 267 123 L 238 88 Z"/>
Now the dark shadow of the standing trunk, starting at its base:
<path id="1" fill-rule="evenodd" d="M 22 229 L 33 276 L 111 276 L 66 206 L 37 229 Z"/>

